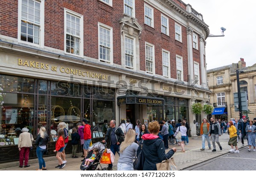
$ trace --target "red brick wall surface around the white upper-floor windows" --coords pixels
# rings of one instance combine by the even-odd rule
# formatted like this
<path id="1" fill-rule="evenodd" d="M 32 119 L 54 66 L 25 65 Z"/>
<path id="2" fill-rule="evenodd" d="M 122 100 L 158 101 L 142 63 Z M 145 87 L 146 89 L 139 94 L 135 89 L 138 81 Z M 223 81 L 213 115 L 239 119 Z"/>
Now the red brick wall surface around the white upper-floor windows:
<path id="1" fill-rule="evenodd" d="M 179 2 L 175 0 L 175 2 Z M 175 40 L 175 21 L 169 18 L 169 36 L 161 33 L 161 12 L 154 9 L 154 28 L 144 24 L 144 1 L 135 0 L 136 19 L 143 28 L 140 36 L 140 70 L 145 71 L 145 42 L 155 48 L 155 71 L 162 75 L 162 49 L 170 52 L 171 77 L 176 77 L 176 55 L 183 57 L 183 77 L 187 81 L 187 35 L 182 26 L 182 43 Z M 186 6 L 180 3 L 180 6 Z M 17 38 L 17 0 L 0 3 L 0 34 Z M 183 7 L 183 8 L 184 8 Z M 64 51 L 64 8 L 84 17 L 84 55 L 98 59 L 98 22 L 113 28 L 113 63 L 121 64 L 121 32 L 119 20 L 123 17 L 123 0 L 113 0 L 108 6 L 99 0 L 47 0 L 45 1 L 44 45 Z M 200 63 L 200 53 L 193 53 L 194 61 Z M 200 65 L 199 65 L 200 66 Z"/>

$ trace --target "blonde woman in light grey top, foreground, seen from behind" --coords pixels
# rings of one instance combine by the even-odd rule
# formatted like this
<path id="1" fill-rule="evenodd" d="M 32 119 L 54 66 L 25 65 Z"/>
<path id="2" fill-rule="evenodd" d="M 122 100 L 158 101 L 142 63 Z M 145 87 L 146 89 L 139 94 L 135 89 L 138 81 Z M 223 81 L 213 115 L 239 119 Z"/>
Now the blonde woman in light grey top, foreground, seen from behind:
<path id="1" fill-rule="evenodd" d="M 120 156 L 117 163 L 117 170 L 134 170 L 133 159 L 136 155 L 138 144 L 134 142 L 135 130 L 129 129 L 125 141 L 120 145 Z"/>

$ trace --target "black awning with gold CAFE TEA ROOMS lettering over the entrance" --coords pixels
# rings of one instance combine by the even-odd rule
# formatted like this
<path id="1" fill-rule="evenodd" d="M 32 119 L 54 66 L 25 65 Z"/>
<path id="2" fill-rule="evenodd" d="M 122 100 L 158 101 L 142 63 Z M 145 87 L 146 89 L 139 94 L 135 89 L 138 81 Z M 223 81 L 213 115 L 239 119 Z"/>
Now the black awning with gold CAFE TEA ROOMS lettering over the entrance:
<path id="1" fill-rule="evenodd" d="M 124 95 L 117 97 L 117 105 L 120 104 L 148 104 L 154 106 L 163 106 L 164 99 L 140 95 Z"/>

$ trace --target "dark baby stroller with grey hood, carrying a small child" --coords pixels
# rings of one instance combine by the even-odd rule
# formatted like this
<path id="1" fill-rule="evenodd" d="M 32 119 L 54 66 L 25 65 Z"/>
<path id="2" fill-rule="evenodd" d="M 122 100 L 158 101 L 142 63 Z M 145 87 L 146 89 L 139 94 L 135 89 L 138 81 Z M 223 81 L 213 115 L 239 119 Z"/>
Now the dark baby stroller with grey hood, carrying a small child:
<path id="1" fill-rule="evenodd" d="M 86 156 L 85 159 L 89 159 L 89 158 L 92 156 L 92 154 L 93 154 L 93 149 L 95 149 L 95 148 L 97 148 L 97 149 L 99 150 L 99 155 L 97 155 L 97 156 L 95 157 L 95 159 L 94 159 L 93 162 L 90 162 L 90 165 L 89 165 L 89 167 L 87 167 L 87 168 L 85 168 L 85 167 L 83 166 L 84 163 L 85 163 L 85 159 L 84 159 L 84 161 L 83 161 L 82 164 L 80 165 L 80 169 L 81 169 L 81 170 L 96 170 L 97 166 L 99 165 L 99 166 L 101 167 L 101 170 L 107 170 L 107 167 L 104 167 L 104 168 L 103 168 L 103 167 L 100 165 L 100 158 L 101 158 L 102 154 L 103 154 L 104 151 L 105 151 L 105 147 L 106 147 L 106 144 L 102 144 L 102 142 L 96 142 L 95 144 L 93 144 L 92 146 L 90 146 L 90 147 L 88 148 L 89 153 L 88 153 L 88 155 Z"/>

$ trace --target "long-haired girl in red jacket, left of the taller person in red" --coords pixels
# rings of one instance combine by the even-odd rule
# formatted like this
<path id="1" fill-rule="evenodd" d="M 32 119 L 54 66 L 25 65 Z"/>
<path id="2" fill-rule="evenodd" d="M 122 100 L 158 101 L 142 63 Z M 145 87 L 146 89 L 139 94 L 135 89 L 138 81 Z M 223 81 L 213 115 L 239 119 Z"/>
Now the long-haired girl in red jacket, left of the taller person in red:
<path id="1" fill-rule="evenodd" d="M 53 152 L 57 151 L 56 158 L 58 159 L 58 166 L 55 168 L 60 168 L 62 169 L 66 164 L 63 163 L 61 159 L 61 153 L 64 150 L 65 142 L 64 142 L 65 136 L 64 136 L 64 130 L 59 130 L 58 131 L 58 140 L 55 145 L 55 150 Z"/>

